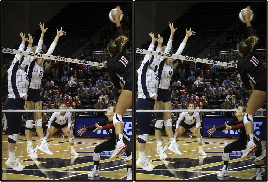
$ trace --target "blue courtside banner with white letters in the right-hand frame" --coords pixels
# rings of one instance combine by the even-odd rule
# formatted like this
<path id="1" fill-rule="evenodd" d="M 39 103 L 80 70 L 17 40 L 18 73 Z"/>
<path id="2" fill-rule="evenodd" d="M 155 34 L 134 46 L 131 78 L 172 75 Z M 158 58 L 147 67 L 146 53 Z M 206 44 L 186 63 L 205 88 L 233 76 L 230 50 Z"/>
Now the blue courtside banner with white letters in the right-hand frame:
<path id="1" fill-rule="evenodd" d="M 224 125 L 224 122 L 228 122 L 235 116 L 204 116 L 202 124 L 202 135 L 209 136 L 207 130 L 215 127 Z M 254 132 L 259 136 L 260 139 L 266 139 L 266 117 L 254 116 Z M 215 131 L 211 136 L 214 137 L 239 137 L 236 130 L 228 130 L 225 132 Z"/>

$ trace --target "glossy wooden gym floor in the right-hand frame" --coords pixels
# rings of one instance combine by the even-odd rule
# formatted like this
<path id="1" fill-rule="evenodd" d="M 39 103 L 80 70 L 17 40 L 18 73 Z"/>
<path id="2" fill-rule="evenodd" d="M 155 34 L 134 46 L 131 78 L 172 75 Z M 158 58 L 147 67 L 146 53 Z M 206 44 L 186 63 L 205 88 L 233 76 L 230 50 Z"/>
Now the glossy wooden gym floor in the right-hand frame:
<path id="1" fill-rule="evenodd" d="M 149 135 L 146 143 L 146 157 L 155 165 L 154 170 L 146 171 L 136 165 L 136 180 L 256 180 L 255 154 L 247 160 L 241 160 L 244 151 L 237 151 L 230 154 L 228 165 L 229 176 L 217 177 L 223 167 L 222 153 L 224 147 L 237 139 L 203 137 L 203 149 L 207 156 L 199 154 L 197 139 L 195 136 L 182 136 L 177 140 L 180 143 L 179 150 L 183 155 L 177 155 L 166 150 L 168 158 L 162 161 L 156 153 L 156 140 L 154 135 Z M 168 142 L 167 136 L 162 136 L 162 144 L 165 147 Z M 266 141 L 262 140 L 263 150 Z M 136 135 L 137 148 L 137 135 Z M 242 153 L 241 153 L 242 152 Z M 138 159 L 136 150 L 136 160 Z M 135 160 L 135 161 L 136 161 Z M 262 179 L 267 180 L 266 165 L 262 166 Z"/>

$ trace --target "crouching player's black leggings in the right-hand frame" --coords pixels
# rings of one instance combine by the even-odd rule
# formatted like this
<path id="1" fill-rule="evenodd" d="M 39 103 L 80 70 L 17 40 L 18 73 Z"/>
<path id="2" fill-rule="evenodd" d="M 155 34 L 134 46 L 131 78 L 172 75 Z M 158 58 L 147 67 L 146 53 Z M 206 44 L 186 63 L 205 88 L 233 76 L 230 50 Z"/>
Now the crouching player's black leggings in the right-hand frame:
<path id="1" fill-rule="evenodd" d="M 255 151 L 256 157 L 259 157 L 262 154 L 262 143 L 260 141 L 255 141 L 256 145 L 258 145 L 258 150 Z M 243 140 L 238 139 L 232 143 L 229 143 L 224 147 L 224 153 L 231 153 L 233 151 L 245 150 L 247 142 L 243 142 Z"/>

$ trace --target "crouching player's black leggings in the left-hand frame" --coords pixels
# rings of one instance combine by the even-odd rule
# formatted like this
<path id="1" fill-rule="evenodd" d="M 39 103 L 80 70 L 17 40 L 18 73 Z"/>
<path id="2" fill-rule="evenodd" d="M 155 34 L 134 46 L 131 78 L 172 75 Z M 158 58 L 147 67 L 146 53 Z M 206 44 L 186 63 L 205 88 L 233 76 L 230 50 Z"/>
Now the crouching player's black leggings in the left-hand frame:
<path id="1" fill-rule="evenodd" d="M 126 141 L 125 142 L 126 146 L 128 146 L 128 149 L 125 151 L 126 156 L 130 156 L 131 152 L 132 152 L 132 142 L 131 141 Z M 101 153 L 103 151 L 110 151 L 110 150 L 114 150 L 116 143 L 114 143 L 113 139 L 109 139 L 105 142 L 100 143 L 99 145 L 97 145 L 95 147 L 94 152 L 95 153 Z"/>

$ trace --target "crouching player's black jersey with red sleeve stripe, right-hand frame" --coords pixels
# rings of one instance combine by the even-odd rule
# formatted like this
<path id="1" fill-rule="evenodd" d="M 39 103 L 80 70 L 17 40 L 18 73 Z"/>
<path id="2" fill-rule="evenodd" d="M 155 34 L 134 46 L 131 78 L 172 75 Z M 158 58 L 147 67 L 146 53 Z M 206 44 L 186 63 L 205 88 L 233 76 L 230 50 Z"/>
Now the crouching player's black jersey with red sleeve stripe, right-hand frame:
<path id="1" fill-rule="evenodd" d="M 236 128 L 235 130 L 237 131 L 239 137 L 240 137 L 242 140 L 247 141 L 247 133 L 246 133 L 246 128 L 245 128 L 243 119 L 242 119 L 242 121 L 238 121 L 238 120 L 237 120 L 237 117 L 235 117 L 235 118 L 231 119 L 227 124 L 228 124 L 229 126 L 238 126 L 238 125 L 239 125 L 238 128 Z M 217 127 L 217 128 L 216 128 L 216 131 L 223 131 L 225 128 L 226 128 L 226 127 L 225 127 L 224 125 L 222 125 L 222 126 Z M 256 140 L 260 140 L 260 139 L 258 138 L 258 135 L 257 135 L 255 132 L 253 132 L 253 133 L 254 133 L 254 135 L 255 135 L 255 136 L 254 136 L 254 141 L 256 141 Z"/>

